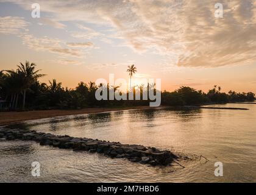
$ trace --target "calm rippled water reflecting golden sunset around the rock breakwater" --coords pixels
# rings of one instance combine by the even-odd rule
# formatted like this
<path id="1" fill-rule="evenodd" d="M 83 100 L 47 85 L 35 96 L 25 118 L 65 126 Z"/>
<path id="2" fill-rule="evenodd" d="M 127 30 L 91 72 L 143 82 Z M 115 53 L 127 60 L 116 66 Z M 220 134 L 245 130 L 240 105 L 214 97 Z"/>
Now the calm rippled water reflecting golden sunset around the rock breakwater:
<path id="1" fill-rule="evenodd" d="M 0 141 L 0 182 L 256 182 L 256 105 L 250 110 L 126 110 L 27 121 L 19 128 L 143 144 L 185 154 L 185 166 L 152 167 L 31 141 Z M 199 160 L 200 155 L 206 157 Z M 39 161 L 41 177 L 32 177 Z M 215 162 L 224 177 L 215 177 Z"/>

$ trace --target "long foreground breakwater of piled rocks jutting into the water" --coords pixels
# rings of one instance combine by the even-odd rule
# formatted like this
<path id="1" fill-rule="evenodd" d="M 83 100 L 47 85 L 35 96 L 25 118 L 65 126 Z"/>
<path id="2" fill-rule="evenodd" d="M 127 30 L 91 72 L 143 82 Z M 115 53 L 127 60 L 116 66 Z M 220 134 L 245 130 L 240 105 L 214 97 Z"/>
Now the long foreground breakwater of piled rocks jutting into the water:
<path id="1" fill-rule="evenodd" d="M 36 141 L 42 146 L 59 147 L 60 149 L 98 152 L 111 158 L 127 158 L 134 163 L 152 166 L 167 166 L 178 158 L 170 151 L 160 151 L 155 147 L 121 144 L 119 142 L 100 141 L 89 138 L 74 138 L 68 135 L 52 135 L 51 133 L 36 132 L 34 130 L 0 129 L 0 138 Z"/>

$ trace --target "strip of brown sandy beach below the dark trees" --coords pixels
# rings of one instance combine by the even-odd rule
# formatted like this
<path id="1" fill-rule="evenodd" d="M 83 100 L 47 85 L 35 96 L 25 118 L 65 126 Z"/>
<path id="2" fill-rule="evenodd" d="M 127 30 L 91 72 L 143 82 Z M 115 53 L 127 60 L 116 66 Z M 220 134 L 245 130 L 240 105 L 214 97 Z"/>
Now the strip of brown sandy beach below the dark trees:
<path id="1" fill-rule="evenodd" d="M 21 122 L 33 119 L 51 118 L 54 116 L 80 115 L 87 113 L 100 113 L 130 109 L 149 109 L 152 107 L 123 107 L 123 108 L 84 108 L 81 110 L 37 110 L 28 112 L 0 112 L 0 126 L 13 122 Z"/>

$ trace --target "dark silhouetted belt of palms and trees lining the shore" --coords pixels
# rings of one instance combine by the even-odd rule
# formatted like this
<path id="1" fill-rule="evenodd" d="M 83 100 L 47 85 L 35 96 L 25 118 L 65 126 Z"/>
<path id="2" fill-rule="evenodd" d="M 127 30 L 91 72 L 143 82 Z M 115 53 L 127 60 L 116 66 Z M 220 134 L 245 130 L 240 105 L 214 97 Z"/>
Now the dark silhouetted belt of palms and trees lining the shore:
<path id="1" fill-rule="evenodd" d="M 64 88 L 62 83 L 55 79 L 49 84 L 40 83 L 39 74 L 34 63 L 22 63 L 16 70 L 0 71 L 0 101 L 6 101 L 5 110 L 32 110 L 32 109 L 77 109 L 85 107 L 121 107 L 133 105 L 149 105 L 149 101 L 97 101 L 95 91 L 99 88 L 94 82 L 78 83 L 75 89 Z M 132 68 L 132 69 L 131 69 Z M 134 66 L 130 71 L 135 73 Z M 128 70 L 127 70 L 128 71 Z M 129 73 L 130 73 L 129 71 Z M 130 76 L 132 76 L 130 74 Z M 107 86 L 107 90 L 109 90 Z M 142 87 L 141 87 L 142 88 Z M 118 90 L 118 87 L 114 87 Z M 121 93 L 121 91 L 120 91 Z M 142 98 L 141 98 L 142 99 Z M 211 102 L 244 102 L 254 101 L 254 93 L 228 94 L 221 92 L 221 87 L 215 86 L 208 93 L 190 87 L 180 87 L 173 92 L 162 92 L 162 105 L 197 105 Z"/>

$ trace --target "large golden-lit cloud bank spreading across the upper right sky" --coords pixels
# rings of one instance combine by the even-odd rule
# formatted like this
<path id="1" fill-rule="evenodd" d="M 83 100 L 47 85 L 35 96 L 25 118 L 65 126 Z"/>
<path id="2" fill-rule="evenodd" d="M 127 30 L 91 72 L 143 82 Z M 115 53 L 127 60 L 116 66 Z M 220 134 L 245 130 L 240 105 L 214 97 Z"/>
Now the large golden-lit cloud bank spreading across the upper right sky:
<path id="1" fill-rule="evenodd" d="M 7 1 L 7 0 L 5 0 Z M 10 0 L 30 9 L 32 0 Z M 116 37 L 137 52 L 156 52 L 169 65 L 218 67 L 256 61 L 256 1 L 222 0 L 224 18 L 215 18 L 215 1 L 71 0 L 38 1 L 55 21 L 81 21 L 115 29 Z M 60 6 L 61 5 L 61 6 Z M 97 38 L 88 27 L 74 38 Z"/>

